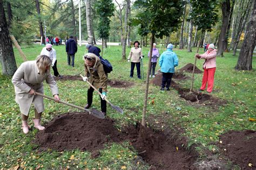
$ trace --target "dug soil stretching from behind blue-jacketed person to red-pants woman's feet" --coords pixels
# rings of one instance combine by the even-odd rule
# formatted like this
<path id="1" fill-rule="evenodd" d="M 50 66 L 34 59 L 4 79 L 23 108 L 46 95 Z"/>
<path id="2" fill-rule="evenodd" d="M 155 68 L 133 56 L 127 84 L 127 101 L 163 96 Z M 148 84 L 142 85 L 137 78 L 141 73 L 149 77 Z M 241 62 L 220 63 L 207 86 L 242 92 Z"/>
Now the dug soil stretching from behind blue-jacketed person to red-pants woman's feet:
<path id="1" fill-rule="evenodd" d="M 163 75 L 159 73 L 156 75 L 156 77 L 154 77 L 150 81 L 150 83 L 156 86 L 161 86 L 162 77 Z M 179 92 L 181 98 L 191 101 L 192 103 L 198 102 L 199 104 L 209 105 L 209 106 L 212 106 L 213 108 L 218 108 L 219 106 L 225 105 L 227 103 L 224 100 L 220 100 L 218 98 L 215 98 L 205 93 L 199 93 L 199 92 L 189 93 L 190 92 L 189 89 L 181 88 L 180 85 L 175 83 L 173 80 L 171 81 L 171 87 Z"/>

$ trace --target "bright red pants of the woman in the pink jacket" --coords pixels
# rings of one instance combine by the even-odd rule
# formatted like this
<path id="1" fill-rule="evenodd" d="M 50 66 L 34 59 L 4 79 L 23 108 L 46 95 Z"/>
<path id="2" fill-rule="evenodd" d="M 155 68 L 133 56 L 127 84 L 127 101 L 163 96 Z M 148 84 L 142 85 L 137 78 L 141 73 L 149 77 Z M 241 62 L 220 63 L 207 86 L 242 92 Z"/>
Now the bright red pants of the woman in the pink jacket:
<path id="1" fill-rule="evenodd" d="M 213 89 L 213 84 L 214 84 L 214 73 L 215 73 L 216 67 L 211 68 L 211 69 L 204 69 L 204 76 L 202 80 L 202 86 L 201 90 L 205 90 L 206 84 L 208 83 L 207 86 L 207 92 L 211 93 Z"/>

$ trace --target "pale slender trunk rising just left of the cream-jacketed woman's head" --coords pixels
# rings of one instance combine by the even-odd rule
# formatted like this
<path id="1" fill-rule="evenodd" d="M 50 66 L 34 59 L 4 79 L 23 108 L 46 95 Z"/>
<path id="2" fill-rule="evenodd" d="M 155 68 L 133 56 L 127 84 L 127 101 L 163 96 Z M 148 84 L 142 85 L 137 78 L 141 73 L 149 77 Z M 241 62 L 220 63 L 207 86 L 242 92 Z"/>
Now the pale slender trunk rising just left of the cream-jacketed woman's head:
<path id="1" fill-rule="evenodd" d="M 130 0 L 126 1 L 126 9 L 125 9 L 125 15 L 124 15 L 124 36 L 123 36 L 123 44 L 122 44 L 122 58 L 126 59 L 126 38 L 127 38 L 127 32 L 128 32 L 128 15 L 129 15 L 129 9 L 130 9 Z"/>

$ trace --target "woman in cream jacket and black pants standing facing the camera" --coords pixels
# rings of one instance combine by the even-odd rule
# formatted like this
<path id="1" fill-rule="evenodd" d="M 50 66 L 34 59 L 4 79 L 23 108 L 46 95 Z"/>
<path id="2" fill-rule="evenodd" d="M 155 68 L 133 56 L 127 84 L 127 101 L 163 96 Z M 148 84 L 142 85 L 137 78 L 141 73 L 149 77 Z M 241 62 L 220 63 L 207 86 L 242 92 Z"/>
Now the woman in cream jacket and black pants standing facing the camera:
<path id="1" fill-rule="evenodd" d="M 130 78 L 133 77 L 133 70 L 136 65 L 137 68 L 137 76 L 140 79 L 140 59 L 143 58 L 142 49 L 139 47 L 139 42 L 136 40 L 133 43 L 134 47 L 131 48 L 130 55 L 128 57 L 128 62 L 130 63 L 131 59 L 131 71 L 130 71 Z"/>

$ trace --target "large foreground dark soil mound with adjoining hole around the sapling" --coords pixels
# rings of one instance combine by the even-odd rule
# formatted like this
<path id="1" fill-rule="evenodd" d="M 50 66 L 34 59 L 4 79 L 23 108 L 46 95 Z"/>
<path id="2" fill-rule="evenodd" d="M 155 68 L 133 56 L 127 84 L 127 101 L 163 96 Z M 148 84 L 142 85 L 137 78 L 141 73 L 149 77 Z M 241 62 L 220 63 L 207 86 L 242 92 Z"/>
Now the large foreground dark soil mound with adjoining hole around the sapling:
<path id="1" fill-rule="evenodd" d="M 138 155 L 156 169 L 193 169 L 197 158 L 181 147 L 182 141 L 170 139 L 173 136 L 171 132 L 154 132 L 151 128 L 140 128 L 139 124 L 119 132 L 114 128 L 113 120 L 97 119 L 85 112 L 60 115 L 45 127 L 36 135 L 39 151 L 79 148 L 97 157 L 105 144 L 129 140 Z"/>

